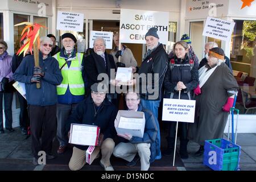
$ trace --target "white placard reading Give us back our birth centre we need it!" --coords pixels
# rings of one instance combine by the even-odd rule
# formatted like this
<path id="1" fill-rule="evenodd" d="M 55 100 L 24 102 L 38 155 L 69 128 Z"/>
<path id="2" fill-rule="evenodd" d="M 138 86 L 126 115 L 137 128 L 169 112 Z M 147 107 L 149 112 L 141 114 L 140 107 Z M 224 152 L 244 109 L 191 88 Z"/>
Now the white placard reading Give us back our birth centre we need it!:
<path id="1" fill-rule="evenodd" d="M 162 121 L 193 123 L 195 117 L 195 100 L 163 99 Z"/>

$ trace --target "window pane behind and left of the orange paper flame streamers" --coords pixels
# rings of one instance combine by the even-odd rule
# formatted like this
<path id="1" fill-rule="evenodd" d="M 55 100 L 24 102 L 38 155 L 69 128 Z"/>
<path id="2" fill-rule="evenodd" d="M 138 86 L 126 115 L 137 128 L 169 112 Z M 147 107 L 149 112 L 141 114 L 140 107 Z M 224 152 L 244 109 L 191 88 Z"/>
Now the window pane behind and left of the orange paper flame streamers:
<path id="1" fill-rule="evenodd" d="M 28 16 L 28 15 L 14 14 L 13 16 L 14 16 L 13 17 L 14 25 L 18 24 L 18 23 L 30 21 L 30 16 Z M 17 52 L 20 48 L 21 33 L 25 26 L 26 25 L 14 27 L 14 51 L 15 52 Z"/>

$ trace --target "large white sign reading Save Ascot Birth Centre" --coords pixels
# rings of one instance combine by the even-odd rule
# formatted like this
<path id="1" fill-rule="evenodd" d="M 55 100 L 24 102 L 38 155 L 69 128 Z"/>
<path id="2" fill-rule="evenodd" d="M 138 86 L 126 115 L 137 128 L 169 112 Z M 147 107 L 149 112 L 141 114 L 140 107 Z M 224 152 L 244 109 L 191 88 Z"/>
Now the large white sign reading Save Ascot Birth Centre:
<path id="1" fill-rule="evenodd" d="M 159 42 L 167 45 L 168 12 L 121 9 L 119 33 L 121 43 L 146 44 L 144 36 L 151 27 L 158 29 Z"/>

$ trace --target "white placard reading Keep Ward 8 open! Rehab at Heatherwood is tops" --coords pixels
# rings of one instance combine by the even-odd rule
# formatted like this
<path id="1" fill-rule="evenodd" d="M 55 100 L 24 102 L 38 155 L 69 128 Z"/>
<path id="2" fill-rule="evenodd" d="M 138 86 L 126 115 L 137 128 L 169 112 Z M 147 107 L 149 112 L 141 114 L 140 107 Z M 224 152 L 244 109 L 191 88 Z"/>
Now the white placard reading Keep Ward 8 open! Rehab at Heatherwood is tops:
<path id="1" fill-rule="evenodd" d="M 57 30 L 82 32 L 84 27 L 84 14 L 58 11 Z"/>

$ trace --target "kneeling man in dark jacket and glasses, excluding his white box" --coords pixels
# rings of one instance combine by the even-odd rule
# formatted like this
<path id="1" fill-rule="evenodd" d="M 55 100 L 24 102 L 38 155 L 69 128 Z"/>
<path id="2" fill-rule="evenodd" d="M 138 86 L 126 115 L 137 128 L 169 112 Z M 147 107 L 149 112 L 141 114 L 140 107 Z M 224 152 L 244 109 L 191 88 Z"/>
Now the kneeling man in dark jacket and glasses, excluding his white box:
<path id="1" fill-rule="evenodd" d="M 86 100 L 80 102 L 75 111 L 69 116 L 66 125 L 70 130 L 71 123 L 95 125 L 100 127 L 99 146 L 101 147 L 100 165 L 105 171 L 113 171 L 110 164 L 110 156 L 114 150 L 116 136 L 114 120 L 117 115 L 117 108 L 106 98 L 107 87 L 102 83 L 94 83 L 90 89 L 91 94 Z M 69 133 L 69 132 L 68 132 Z M 73 154 L 69 161 L 69 168 L 77 171 L 85 165 L 86 150 L 89 146 L 75 145 Z"/>

